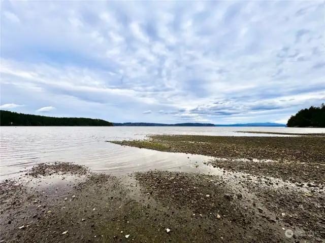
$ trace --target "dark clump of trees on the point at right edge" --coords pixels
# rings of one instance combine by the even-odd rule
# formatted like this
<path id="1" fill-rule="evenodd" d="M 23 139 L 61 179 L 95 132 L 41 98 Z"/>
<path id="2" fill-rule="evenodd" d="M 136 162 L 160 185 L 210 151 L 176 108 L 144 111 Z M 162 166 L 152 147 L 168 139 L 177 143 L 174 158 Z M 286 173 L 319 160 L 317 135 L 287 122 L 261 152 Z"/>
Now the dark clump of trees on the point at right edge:
<path id="1" fill-rule="evenodd" d="M 292 115 L 286 124 L 288 127 L 318 127 L 325 128 L 325 104 L 320 107 L 311 106 Z"/>

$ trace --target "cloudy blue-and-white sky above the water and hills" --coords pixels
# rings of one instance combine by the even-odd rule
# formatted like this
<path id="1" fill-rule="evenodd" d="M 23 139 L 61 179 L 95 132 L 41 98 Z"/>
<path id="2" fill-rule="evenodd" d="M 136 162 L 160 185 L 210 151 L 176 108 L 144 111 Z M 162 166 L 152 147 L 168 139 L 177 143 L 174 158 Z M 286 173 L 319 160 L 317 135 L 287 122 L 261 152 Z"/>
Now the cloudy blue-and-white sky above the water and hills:
<path id="1" fill-rule="evenodd" d="M 2 1 L 1 109 L 286 123 L 325 102 L 324 2 Z"/>

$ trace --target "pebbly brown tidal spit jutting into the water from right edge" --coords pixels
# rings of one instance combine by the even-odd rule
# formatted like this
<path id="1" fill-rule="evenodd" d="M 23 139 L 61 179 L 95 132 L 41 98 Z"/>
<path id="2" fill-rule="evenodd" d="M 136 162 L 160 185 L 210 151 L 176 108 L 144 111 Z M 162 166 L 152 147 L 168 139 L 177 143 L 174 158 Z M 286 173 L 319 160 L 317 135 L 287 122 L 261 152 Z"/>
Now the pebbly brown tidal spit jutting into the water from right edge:
<path id="1" fill-rule="evenodd" d="M 325 183 L 325 137 L 154 135 L 113 143 L 166 152 L 202 154 L 214 167 L 272 176 L 298 185 Z"/>

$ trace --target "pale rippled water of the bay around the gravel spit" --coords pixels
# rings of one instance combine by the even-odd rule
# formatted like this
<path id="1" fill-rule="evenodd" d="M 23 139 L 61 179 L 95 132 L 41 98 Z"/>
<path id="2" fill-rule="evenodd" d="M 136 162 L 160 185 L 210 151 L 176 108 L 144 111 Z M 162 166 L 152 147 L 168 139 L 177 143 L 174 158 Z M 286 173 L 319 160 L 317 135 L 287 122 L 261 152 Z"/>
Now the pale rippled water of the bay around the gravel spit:
<path id="1" fill-rule="evenodd" d="M 105 140 L 140 139 L 148 134 L 272 136 L 236 131 L 325 133 L 320 128 L 267 127 L 1 127 L 0 179 L 15 177 L 38 163 L 54 161 L 74 162 L 105 173 L 204 170 L 194 164 L 209 159 L 207 156 L 123 147 Z"/>

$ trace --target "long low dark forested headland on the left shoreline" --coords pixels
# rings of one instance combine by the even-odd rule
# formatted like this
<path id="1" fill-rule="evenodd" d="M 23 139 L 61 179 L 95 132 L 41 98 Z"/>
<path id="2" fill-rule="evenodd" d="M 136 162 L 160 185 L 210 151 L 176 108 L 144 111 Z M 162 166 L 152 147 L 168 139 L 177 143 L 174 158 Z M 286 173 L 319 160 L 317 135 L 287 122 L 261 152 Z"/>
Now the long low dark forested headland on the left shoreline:
<path id="1" fill-rule="evenodd" d="M 1 126 L 113 126 L 102 119 L 51 117 L 0 110 Z"/>

